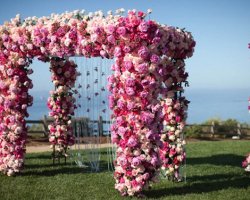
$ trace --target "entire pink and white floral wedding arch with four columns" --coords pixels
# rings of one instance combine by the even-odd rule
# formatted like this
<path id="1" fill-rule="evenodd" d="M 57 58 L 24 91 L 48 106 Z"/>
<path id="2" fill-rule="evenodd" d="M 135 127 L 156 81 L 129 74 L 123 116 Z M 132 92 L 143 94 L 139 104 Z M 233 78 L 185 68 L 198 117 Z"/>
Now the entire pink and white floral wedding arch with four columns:
<path id="1" fill-rule="evenodd" d="M 108 79 L 112 141 L 118 146 L 115 188 L 137 195 L 161 166 L 167 175 L 178 172 L 188 103 L 180 95 L 188 76 L 184 59 L 195 42 L 189 32 L 145 17 L 135 10 L 127 16 L 75 11 L 23 21 L 17 16 L 0 26 L 0 171 L 13 175 L 24 164 L 35 57 L 51 63 L 55 85 L 48 101 L 55 118 L 49 140 L 61 148 L 74 143 L 70 119 L 78 72 L 68 57 L 84 56 L 115 58 Z"/>

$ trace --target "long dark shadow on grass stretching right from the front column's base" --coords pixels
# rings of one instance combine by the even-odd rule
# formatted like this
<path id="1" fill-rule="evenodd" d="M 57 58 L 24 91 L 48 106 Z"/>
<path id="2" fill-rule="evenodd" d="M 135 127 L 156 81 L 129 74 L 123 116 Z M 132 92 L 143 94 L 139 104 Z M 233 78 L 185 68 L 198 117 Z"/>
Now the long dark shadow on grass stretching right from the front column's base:
<path id="1" fill-rule="evenodd" d="M 202 194 L 229 188 L 247 188 L 250 186 L 250 177 L 239 174 L 194 176 L 191 177 L 191 180 L 192 179 L 202 180 L 203 182 L 197 183 L 191 181 L 184 186 L 151 189 L 145 191 L 145 195 L 150 198 L 158 199 L 174 195 Z"/>

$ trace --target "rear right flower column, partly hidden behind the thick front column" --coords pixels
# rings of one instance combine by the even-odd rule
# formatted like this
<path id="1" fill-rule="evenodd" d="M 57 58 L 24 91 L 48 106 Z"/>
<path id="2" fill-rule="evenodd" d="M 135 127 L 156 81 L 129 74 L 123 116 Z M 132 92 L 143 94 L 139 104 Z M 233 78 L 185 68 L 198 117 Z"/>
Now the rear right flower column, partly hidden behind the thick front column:
<path id="1" fill-rule="evenodd" d="M 182 59 L 168 59 L 165 62 L 166 74 L 163 76 L 164 90 L 161 102 L 163 110 L 163 131 L 160 149 L 162 169 L 164 175 L 174 181 L 180 181 L 180 167 L 186 157 L 185 140 L 182 131 L 187 117 L 188 101 L 182 97 L 182 83 L 186 82 L 188 74 L 185 72 Z"/>

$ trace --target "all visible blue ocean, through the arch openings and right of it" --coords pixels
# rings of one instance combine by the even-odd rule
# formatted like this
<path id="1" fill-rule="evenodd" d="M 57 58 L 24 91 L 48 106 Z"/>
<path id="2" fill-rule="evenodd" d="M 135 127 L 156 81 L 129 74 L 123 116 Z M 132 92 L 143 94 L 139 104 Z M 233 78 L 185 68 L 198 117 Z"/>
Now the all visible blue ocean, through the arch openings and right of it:
<path id="1" fill-rule="evenodd" d="M 47 91 L 32 92 L 32 95 L 34 104 L 28 108 L 29 119 L 38 120 L 44 115 L 48 115 L 47 99 L 49 93 Z M 250 113 L 248 112 L 250 89 L 200 90 L 187 88 L 184 95 L 190 101 L 188 123 L 201 123 L 209 118 L 223 120 L 233 118 L 240 122 L 250 122 Z M 87 101 L 84 99 L 80 101 L 83 106 L 81 110 L 76 112 L 77 115 L 84 115 L 85 113 L 90 118 L 97 119 L 99 115 L 102 115 L 104 119 L 109 118 L 110 112 L 107 105 L 101 105 L 98 102 L 85 103 Z M 89 113 L 85 112 L 87 107 L 90 108 Z M 100 111 L 103 108 L 106 108 L 105 113 Z"/>

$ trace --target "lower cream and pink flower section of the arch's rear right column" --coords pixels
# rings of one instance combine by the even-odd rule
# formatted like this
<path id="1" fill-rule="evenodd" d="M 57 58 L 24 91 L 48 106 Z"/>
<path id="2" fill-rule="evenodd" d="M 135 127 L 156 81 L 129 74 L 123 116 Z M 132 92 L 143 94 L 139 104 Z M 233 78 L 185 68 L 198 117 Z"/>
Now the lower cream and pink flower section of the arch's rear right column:
<path id="1" fill-rule="evenodd" d="M 167 98 L 162 101 L 164 128 L 161 134 L 163 145 L 160 156 L 164 176 L 173 181 L 181 180 L 179 170 L 186 158 L 182 131 L 185 126 L 187 103 L 185 98 Z"/>

